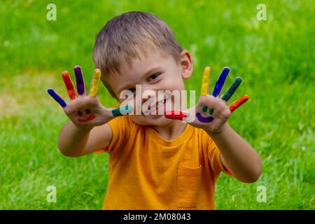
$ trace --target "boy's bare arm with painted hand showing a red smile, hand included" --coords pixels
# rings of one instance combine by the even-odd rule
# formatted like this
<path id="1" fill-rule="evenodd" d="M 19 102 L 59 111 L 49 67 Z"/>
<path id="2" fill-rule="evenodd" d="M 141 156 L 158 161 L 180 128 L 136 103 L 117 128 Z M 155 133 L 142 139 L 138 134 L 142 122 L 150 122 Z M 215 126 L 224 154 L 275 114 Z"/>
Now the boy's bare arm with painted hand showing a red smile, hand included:
<path id="1" fill-rule="evenodd" d="M 77 157 L 101 150 L 109 146 L 113 137 L 111 127 L 107 124 L 116 116 L 127 115 L 132 106 L 106 109 L 97 99 L 101 71 L 95 69 L 89 94 L 85 94 L 85 85 L 80 66 L 74 67 L 76 74 L 77 94 L 74 90 L 68 71 L 62 72 L 62 78 L 68 91 L 70 102 L 65 102 L 54 90 L 48 94 L 62 106 L 64 113 L 71 120 L 62 128 L 58 146 L 67 156 Z"/>

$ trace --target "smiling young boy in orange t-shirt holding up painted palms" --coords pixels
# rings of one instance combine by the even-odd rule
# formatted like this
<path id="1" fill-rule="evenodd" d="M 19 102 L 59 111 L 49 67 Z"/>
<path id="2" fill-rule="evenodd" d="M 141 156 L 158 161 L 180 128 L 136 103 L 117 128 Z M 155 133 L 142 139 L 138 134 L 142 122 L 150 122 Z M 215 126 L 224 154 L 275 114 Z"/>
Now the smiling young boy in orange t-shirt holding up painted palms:
<path id="1" fill-rule="evenodd" d="M 165 22 L 143 12 L 119 15 L 97 34 L 93 57 L 100 70 L 95 70 L 90 94 L 85 94 L 78 66 L 78 94 L 69 73 L 62 73 L 71 102 L 48 92 L 71 120 L 59 134 L 60 151 L 71 157 L 97 151 L 110 155 L 103 209 L 215 209 L 220 172 L 245 183 L 259 178 L 258 154 L 227 123 L 234 110 L 226 105 L 229 97 L 219 98 L 221 90 L 208 94 L 209 67 L 196 119 L 189 123 L 152 113 L 120 116 L 132 107 L 106 109 L 99 104 L 99 78 L 120 103 L 120 92 L 135 92 L 136 85 L 142 92 L 185 90 L 183 80 L 193 73 L 193 59 Z"/>

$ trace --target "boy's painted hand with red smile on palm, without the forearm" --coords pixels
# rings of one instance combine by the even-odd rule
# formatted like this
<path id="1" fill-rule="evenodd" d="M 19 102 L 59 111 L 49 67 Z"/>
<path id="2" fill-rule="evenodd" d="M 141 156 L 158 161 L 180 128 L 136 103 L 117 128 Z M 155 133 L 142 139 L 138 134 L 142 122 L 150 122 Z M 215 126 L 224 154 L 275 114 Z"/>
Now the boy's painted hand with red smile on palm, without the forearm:
<path id="1" fill-rule="evenodd" d="M 122 106 L 116 109 L 106 109 L 97 99 L 99 88 L 99 79 L 101 71 L 95 69 L 90 86 L 89 94 L 85 94 L 84 79 L 80 66 L 74 67 L 76 74 L 76 94 L 68 71 L 62 72 L 62 78 L 68 91 L 70 102 L 66 103 L 54 90 L 48 89 L 48 94 L 62 106 L 66 116 L 70 118 L 73 124 L 81 128 L 92 128 L 94 126 L 104 125 L 116 116 L 127 115 L 132 111 L 132 106 Z"/>

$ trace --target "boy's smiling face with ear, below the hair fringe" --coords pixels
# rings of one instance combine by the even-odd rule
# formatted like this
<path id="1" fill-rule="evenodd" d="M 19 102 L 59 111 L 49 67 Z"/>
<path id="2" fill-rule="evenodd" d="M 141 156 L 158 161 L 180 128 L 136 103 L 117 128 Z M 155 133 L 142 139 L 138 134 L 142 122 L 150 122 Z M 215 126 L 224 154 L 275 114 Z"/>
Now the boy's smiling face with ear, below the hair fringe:
<path id="1" fill-rule="evenodd" d="M 132 67 L 123 63 L 120 74 L 110 76 L 107 82 L 121 103 L 125 99 L 120 99 L 120 92 L 123 90 L 135 92 L 136 85 L 141 85 L 141 94 L 146 90 L 153 90 L 156 93 L 158 90 L 171 92 L 185 90 L 183 80 L 190 78 L 191 73 L 193 73 L 193 62 L 187 50 L 183 50 L 179 55 L 179 63 L 172 55 L 163 56 L 160 52 L 153 51 L 146 56 L 141 55 L 141 59 L 134 59 Z M 148 99 L 141 99 L 142 105 L 146 100 Z M 130 118 L 138 125 L 164 126 L 171 122 L 163 115 L 131 115 Z"/>

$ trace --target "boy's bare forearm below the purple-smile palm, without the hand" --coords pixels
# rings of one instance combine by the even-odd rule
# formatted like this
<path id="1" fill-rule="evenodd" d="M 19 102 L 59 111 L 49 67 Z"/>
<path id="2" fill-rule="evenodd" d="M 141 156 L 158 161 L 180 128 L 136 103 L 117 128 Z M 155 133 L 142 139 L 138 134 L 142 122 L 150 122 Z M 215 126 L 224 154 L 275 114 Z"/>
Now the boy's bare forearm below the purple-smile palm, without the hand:
<path id="1" fill-rule="evenodd" d="M 236 179 L 246 183 L 258 180 L 262 169 L 258 154 L 228 123 L 218 132 L 206 132 L 218 146 L 223 165 Z"/>

